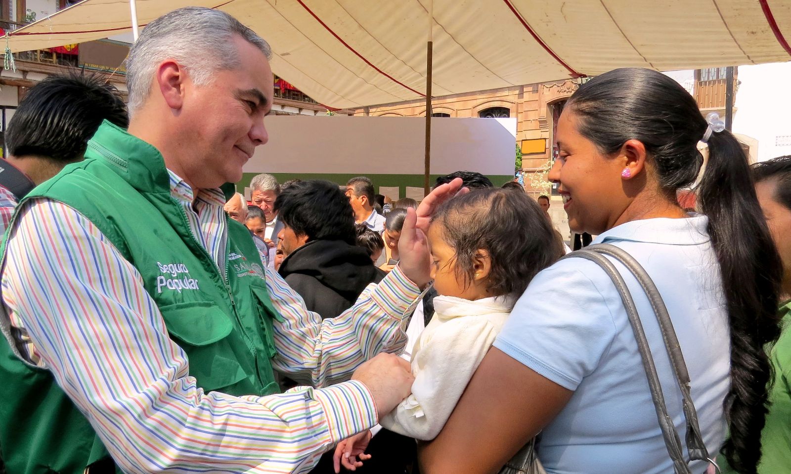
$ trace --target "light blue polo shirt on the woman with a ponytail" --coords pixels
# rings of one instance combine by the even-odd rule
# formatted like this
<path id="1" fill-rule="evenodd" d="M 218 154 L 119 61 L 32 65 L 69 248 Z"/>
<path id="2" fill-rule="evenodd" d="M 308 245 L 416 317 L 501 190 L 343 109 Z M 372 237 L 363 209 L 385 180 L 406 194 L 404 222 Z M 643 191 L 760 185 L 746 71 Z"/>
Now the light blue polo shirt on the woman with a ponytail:
<path id="1" fill-rule="evenodd" d="M 730 343 L 707 223 L 699 214 L 627 222 L 593 243 L 623 248 L 656 283 L 687 362 L 706 447 L 715 455 L 725 440 Z M 681 395 L 656 317 L 637 280 L 616 266 L 637 305 L 668 413 L 684 444 Z M 574 391 L 541 434 L 539 459 L 547 472 L 673 472 L 634 332 L 615 286 L 596 264 L 567 259 L 536 275 L 494 346 Z M 697 461 L 692 471 L 705 472 L 706 465 Z"/>

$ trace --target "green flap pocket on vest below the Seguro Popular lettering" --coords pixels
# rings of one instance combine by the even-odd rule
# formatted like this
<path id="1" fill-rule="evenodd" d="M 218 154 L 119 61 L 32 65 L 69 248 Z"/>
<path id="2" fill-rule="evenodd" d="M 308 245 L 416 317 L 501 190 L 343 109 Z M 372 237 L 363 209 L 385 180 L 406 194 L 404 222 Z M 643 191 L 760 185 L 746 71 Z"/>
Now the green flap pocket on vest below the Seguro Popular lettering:
<path id="1" fill-rule="evenodd" d="M 187 354 L 189 374 L 206 392 L 235 385 L 249 377 L 241 360 L 247 354 L 240 337 L 233 336 L 228 315 L 209 301 L 177 303 L 160 308 L 172 339 Z M 239 339 L 239 340 L 237 340 Z"/>

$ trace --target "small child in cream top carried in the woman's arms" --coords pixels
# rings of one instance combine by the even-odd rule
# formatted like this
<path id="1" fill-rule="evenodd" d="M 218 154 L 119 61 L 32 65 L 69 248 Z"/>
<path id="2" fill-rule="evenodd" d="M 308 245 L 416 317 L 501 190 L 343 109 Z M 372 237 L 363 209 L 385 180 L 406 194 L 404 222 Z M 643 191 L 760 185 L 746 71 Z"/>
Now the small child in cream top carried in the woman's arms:
<path id="1" fill-rule="evenodd" d="M 517 298 L 561 256 L 538 204 L 507 189 L 449 200 L 434 214 L 427 237 L 439 294 L 435 315 L 415 344 L 412 394 L 380 420 L 421 440 L 439 434 Z M 359 467 L 354 454 L 366 437 L 363 432 L 341 442 L 335 457 L 346 451 L 343 464 Z"/>

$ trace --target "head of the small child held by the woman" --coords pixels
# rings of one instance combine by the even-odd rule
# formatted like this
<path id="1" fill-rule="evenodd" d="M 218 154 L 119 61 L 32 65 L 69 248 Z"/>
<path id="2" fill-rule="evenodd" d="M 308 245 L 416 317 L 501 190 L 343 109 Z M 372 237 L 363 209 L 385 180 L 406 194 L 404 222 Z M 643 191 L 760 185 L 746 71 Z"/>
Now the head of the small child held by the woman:
<path id="1" fill-rule="evenodd" d="M 429 228 L 438 294 L 477 300 L 524 291 L 560 256 L 536 201 L 507 189 L 476 189 L 448 200 Z"/>

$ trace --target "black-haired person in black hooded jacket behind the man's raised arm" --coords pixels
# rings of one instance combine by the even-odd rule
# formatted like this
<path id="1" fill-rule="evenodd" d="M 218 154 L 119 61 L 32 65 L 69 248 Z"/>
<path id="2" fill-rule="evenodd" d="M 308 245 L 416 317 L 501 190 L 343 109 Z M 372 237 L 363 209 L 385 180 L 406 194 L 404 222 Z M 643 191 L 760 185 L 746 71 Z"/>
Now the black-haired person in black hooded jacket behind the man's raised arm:
<path id="1" fill-rule="evenodd" d="M 354 211 L 337 184 L 308 180 L 278 195 L 274 212 L 286 254 L 278 272 L 321 317 L 350 308 L 382 276 L 365 248 L 354 245 Z"/>

